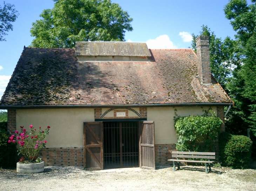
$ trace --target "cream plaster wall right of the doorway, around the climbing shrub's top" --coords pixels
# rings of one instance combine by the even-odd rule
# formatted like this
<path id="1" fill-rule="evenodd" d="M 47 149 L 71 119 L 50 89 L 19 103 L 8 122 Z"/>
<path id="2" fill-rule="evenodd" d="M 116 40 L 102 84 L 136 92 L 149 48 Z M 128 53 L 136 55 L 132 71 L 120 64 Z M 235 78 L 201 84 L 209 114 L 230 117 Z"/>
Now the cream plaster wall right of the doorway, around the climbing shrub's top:
<path id="1" fill-rule="evenodd" d="M 197 116 L 203 115 L 208 107 L 201 108 L 200 106 L 186 107 L 154 107 L 148 108 L 148 120 L 154 121 L 155 124 L 155 144 L 173 144 L 177 142 L 178 136 L 174 128 L 174 116 Z M 211 107 L 217 113 L 216 107 Z"/>

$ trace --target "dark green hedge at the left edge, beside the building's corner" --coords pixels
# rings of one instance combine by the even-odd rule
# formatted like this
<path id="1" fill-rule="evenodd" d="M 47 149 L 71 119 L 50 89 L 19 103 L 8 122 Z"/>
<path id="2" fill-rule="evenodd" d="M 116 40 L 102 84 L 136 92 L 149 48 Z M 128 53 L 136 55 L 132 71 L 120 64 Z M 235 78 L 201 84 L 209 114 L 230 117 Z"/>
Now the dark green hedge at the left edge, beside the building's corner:
<path id="1" fill-rule="evenodd" d="M 5 127 L 4 124 L 6 125 Z M 7 123 L 0 123 L 0 167 L 1 168 L 12 168 L 15 167 L 15 155 L 16 155 L 16 145 L 9 144 L 8 138 L 10 134 L 7 133 Z"/>

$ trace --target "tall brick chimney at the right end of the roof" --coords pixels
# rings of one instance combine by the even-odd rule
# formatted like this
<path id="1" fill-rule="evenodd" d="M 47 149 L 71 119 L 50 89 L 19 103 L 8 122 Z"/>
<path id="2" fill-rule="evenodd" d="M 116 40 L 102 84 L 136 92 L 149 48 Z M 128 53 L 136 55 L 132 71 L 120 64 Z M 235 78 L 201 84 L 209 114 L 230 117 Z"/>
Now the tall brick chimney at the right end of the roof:
<path id="1" fill-rule="evenodd" d="M 197 70 L 201 84 L 211 83 L 209 36 L 196 38 Z"/>

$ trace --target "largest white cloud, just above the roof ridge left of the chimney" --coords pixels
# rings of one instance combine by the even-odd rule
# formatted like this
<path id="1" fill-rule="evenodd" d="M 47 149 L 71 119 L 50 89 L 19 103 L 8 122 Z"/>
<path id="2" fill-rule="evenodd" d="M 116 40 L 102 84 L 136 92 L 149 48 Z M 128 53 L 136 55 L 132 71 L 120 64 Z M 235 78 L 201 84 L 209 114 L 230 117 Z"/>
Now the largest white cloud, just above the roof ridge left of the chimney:
<path id="1" fill-rule="evenodd" d="M 170 41 L 168 35 L 161 35 L 156 39 L 149 39 L 147 42 L 149 49 L 175 49 L 173 42 Z"/>

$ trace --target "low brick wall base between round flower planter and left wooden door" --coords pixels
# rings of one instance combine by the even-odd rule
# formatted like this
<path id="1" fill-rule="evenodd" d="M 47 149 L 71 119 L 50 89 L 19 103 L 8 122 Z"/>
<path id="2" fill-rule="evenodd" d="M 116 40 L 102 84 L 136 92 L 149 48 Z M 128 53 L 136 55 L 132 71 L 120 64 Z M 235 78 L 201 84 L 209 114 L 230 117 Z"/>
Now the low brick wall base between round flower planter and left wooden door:
<path id="1" fill-rule="evenodd" d="M 60 147 L 43 148 L 39 156 L 47 166 L 76 166 L 83 167 L 83 148 Z"/>

